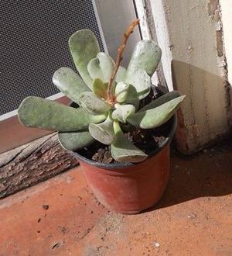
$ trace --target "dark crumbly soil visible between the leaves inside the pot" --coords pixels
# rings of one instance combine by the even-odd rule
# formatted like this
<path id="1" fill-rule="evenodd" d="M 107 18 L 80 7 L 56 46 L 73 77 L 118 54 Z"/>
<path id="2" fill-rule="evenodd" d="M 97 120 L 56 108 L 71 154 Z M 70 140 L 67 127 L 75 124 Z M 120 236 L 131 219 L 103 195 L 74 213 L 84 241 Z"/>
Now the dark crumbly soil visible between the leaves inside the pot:
<path id="1" fill-rule="evenodd" d="M 161 94 L 159 92 L 152 91 L 148 97 L 142 100 L 139 109 L 147 105 L 153 99 L 158 98 Z M 168 136 L 170 126 L 172 121 L 169 120 L 167 123 L 159 126 L 155 129 L 142 130 L 136 128 L 135 130 L 127 130 L 127 127 L 121 126 L 121 129 L 125 132 L 125 137 L 128 138 L 136 147 L 144 151 L 146 154 L 151 154 L 162 143 L 163 140 Z M 91 144 L 89 147 L 84 147 L 81 150 L 78 150 L 78 154 L 100 162 L 104 164 L 117 163 L 113 157 L 111 157 L 111 146 L 101 144 L 97 140 L 94 144 Z"/>

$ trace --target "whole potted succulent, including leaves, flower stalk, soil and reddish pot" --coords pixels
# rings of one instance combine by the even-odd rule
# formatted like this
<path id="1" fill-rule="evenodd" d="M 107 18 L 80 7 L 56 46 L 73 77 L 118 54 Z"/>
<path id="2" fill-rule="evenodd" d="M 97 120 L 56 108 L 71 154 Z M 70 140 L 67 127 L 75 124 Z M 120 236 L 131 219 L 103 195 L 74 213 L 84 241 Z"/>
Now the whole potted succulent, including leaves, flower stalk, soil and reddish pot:
<path id="1" fill-rule="evenodd" d="M 155 99 L 151 76 L 161 49 L 154 41 L 139 41 L 128 68 L 120 66 L 138 22 L 126 30 L 115 63 L 100 52 L 89 29 L 74 33 L 69 47 L 80 76 L 69 67 L 53 75 L 72 105 L 31 96 L 18 112 L 24 126 L 58 131 L 60 144 L 80 161 L 97 199 L 120 213 L 138 213 L 161 198 L 169 178 L 174 113 L 184 99 L 177 91 Z"/>

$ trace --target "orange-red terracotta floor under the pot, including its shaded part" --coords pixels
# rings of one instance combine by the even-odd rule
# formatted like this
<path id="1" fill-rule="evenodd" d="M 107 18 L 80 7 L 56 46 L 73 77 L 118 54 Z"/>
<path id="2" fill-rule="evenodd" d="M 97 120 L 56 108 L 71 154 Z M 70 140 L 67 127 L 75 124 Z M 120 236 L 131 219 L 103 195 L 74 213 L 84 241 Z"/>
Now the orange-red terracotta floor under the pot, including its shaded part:
<path id="1" fill-rule="evenodd" d="M 172 157 L 165 195 L 138 215 L 111 213 L 81 168 L 0 202 L 0 255 L 232 255 L 232 151 Z"/>

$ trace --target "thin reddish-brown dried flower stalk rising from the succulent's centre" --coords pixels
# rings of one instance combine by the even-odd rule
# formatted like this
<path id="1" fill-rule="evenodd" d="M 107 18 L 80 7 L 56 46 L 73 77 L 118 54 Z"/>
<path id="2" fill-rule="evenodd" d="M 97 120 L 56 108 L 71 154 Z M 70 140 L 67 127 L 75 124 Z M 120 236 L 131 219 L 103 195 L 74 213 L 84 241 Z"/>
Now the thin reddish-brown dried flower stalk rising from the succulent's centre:
<path id="1" fill-rule="evenodd" d="M 117 56 L 117 61 L 116 61 L 116 64 L 115 64 L 115 67 L 114 67 L 114 71 L 113 71 L 113 74 L 111 75 L 111 79 L 109 81 L 109 84 L 108 84 L 108 87 L 107 87 L 107 101 L 108 102 L 114 102 L 114 95 L 112 94 L 112 88 L 113 88 L 113 82 L 114 82 L 114 78 L 115 78 L 115 75 L 117 74 L 117 71 L 118 71 L 118 67 L 121 63 L 121 60 L 122 60 L 122 53 L 123 51 L 125 50 L 125 46 L 126 46 L 126 43 L 128 41 L 128 37 L 131 35 L 131 33 L 133 33 L 134 29 L 135 29 L 135 26 L 137 26 L 139 23 L 139 19 L 135 19 L 130 26 L 128 26 L 128 29 L 126 30 L 125 34 L 124 34 L 124 37 L 123 37 L 123 40 L 121 42 L 121 45 L 120 47 L 118 48 L 118 56 Z"/>

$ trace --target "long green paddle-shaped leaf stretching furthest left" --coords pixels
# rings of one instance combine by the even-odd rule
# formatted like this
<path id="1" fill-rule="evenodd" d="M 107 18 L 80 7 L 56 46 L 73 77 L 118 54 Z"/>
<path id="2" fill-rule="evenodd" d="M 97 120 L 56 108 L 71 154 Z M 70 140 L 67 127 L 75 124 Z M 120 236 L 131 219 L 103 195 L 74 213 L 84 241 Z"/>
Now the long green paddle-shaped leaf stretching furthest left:
<path id="1" fill-rule="evenodd" d="M 105 115 L 91 116 L 84 109 L 74 109 L 34 96 L 22 101 L 18 116 L 24 126 L 63 132 L 83 130 L 90 123 L 100 123 L 106 119 Z"/>

